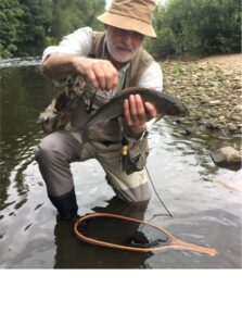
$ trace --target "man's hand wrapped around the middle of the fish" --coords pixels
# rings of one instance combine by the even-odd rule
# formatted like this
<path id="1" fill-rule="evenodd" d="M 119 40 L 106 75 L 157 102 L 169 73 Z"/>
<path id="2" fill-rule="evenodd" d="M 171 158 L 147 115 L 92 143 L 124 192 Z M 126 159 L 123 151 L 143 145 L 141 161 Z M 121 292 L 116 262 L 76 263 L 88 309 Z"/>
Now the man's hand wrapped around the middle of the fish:
<path id="1" fill-rule="evenodd" d="M 155 106 L 142 101 L 140 95 L 130 95 L 124 101 L 124 122 L 127 136 L 139 137 L 145 130 L 145 123 L 157 115 Z"/>

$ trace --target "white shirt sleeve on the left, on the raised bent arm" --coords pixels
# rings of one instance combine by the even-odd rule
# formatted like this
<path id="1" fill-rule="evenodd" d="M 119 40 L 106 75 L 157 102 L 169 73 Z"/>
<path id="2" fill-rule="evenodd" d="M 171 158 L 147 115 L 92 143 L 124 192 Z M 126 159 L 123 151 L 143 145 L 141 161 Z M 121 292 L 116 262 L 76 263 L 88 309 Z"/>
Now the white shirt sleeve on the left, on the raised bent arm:
<path id="1" fill-rule="evenodd" d="M 48 47 L 42 54 L 42 62 L 52 53 L 67 53 L 87 57 L 91 50 L 92 28 L 79 28 L 61 40 L 59 46 Z"/>

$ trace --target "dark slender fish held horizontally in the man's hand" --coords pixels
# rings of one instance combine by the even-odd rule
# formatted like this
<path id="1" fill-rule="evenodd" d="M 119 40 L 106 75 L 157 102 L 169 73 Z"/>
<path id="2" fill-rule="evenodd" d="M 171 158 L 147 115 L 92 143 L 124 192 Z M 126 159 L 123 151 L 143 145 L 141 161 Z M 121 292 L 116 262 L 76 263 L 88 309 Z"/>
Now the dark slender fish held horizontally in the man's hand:
<path id="1" fill-rule="evenodd" d="M 84 136 L 82 139 L 85 139 L 88 130 L 95 124 L 122 116 L 124 101 L 130 95 L 140 95 L 143 103 L 150 102 L 156 108 L 157 116 L 155 122 L 166 114 L 177 116 L 186 116 L 189 114 L 188 108 L 167 92 L 144 87 L 127 87 L 113 97 L 107 103 L 103 104 L 82 126 L 75 128 L 75 131 L 80 131 Z"/>

